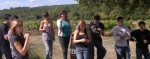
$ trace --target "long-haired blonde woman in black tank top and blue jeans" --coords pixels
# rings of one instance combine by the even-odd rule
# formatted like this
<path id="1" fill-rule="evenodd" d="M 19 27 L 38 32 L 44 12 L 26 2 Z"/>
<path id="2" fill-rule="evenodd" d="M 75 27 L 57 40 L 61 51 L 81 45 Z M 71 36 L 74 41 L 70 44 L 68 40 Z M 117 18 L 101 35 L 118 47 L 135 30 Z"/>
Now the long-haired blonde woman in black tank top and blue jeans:
<path id="1" fill-rule="evenodd" d="M 85 21 L 79 21 L 77 30 L 74 33 L 74 41 L 76 44 L 77 59 L 88 59 L 89 43 L 91 42 L 90 31 L 86 29 Z"/>

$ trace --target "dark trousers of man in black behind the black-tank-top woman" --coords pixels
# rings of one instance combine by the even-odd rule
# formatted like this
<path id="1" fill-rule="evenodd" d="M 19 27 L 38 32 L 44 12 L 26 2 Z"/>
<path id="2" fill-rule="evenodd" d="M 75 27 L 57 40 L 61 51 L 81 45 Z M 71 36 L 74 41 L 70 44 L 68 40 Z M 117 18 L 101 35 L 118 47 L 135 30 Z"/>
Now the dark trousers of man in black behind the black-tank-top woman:
<path id="1" fill-rule="evenodd" d="M 97 59 L 103 59 L 106 55 L 106 49 L 102 45 L 101 37 L 93 37 L 93 43 L 97 48 Z"/>

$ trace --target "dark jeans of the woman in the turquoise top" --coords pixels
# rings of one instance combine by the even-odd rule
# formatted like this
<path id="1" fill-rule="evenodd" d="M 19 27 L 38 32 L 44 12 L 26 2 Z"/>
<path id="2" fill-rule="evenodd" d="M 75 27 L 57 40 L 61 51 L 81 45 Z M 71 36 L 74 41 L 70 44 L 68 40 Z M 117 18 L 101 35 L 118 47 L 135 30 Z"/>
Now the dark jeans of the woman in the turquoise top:
<path id="1" fill-rule="evenodd" d="M 69 41 L 70 41 L 70 36 L 59 37 L 59 42 L 63 51 L 63 59 L 67 59 Z"/>

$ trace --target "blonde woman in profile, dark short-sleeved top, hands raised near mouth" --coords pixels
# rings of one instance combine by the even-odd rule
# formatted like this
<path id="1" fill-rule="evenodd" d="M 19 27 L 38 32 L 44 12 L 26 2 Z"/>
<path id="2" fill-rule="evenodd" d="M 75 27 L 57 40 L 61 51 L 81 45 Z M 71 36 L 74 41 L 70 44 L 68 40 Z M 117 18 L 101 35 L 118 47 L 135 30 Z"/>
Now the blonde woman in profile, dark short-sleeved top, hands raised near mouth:
<path id="1" fill-rule="evenodd" d="M 15 19 L 10 27 L 10 44 L 12 44 L 11 52 L 13 52 L 13 59 L 29 59 L 28 56 L 28 41 L 30 34 L 27 33 L 23 36 L 23 22 Z"/>

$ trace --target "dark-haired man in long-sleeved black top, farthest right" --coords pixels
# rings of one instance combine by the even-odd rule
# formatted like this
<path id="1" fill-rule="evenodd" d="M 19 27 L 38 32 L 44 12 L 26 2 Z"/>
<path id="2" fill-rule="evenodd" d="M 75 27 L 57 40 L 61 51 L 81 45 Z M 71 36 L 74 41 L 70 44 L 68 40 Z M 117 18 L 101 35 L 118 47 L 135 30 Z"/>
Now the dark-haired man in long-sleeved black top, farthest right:
<path id="1" fill-rule="evenodd" d="M 149 49 L 148 49 L 148 42 L 150 41 L 150 31 L 145 29 L 145 22 L 140 21 L 138 23 L 139 29 L 136 29 L 131 32 L 132 38 L 136 40 L 136 59 L 142 59 L 142 55 L 145 59 L 149 58 Z"/>

